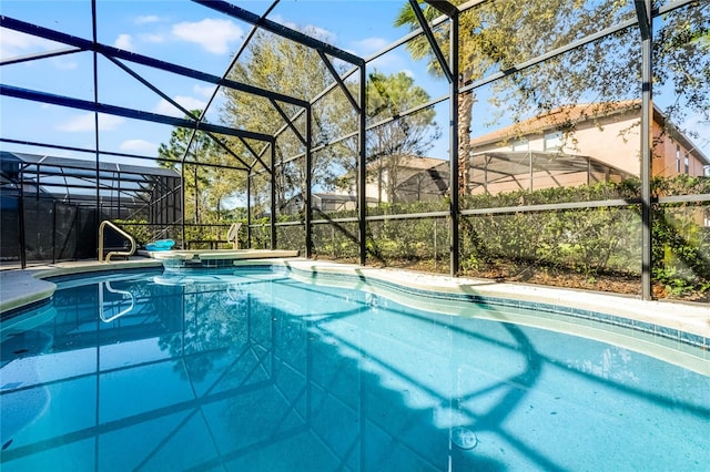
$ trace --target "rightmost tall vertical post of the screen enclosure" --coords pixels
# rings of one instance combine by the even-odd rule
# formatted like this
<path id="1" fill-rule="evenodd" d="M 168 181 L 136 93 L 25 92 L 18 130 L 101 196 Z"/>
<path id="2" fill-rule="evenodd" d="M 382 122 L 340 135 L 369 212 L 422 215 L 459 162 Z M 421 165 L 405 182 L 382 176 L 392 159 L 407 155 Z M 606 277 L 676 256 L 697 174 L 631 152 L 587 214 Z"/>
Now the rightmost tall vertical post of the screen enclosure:
<path id="1" fill-rule="evenodd" d="M 651 125 L 653 123 L 653 63 L 651 0 L 636 0 L 641 31 L 641 296 L 652 298 Z"/>

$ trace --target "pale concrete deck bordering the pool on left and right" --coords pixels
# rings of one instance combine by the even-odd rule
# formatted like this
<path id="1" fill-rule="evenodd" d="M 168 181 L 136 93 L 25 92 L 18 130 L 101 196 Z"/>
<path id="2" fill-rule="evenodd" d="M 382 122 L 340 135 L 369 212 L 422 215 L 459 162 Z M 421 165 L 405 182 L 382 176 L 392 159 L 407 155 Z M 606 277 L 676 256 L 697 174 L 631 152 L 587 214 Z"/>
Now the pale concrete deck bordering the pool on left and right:
<path id="1" fill-rule="evenodd" d="M 194 253 L 194 252 L 193 252 Z M 206 252 L 205 260 L 216 257 Z M 160 256 L 160 258 L 164 258 Z M 670 300 L 645 301 L 638 297 L 595 291 L 572 290 L 525 284 L 496 283 L 486 279 L 452 278 L 444 275 L 422 274 L 398 269 L 379 269 L 357 265 L 315 261 L 294 258 L 292 253 L 246 253 L 235 255 L 234 264 L 283 264 L 301 271 L 313 274 L 349 274 L 361 278 L 372 278 L 403 285 L 420 290 L 436 290 L 450 294 L 500 297 L 531 302 L 551 304 L 578 309 L 587 309 L 684 332 L 710 338 L 710 305 Z M 182 256 L 175 256 L 182 257 Z M 28 268 L 24 270 L 0 271 L 0 314 L 51 297 L 55 285 L 43 280 L 61 275 L 98 273 L 128 268 L 159 268 L 158 258 L 132 258 L 111 263 L 77 261 L 60 263 Z"/>

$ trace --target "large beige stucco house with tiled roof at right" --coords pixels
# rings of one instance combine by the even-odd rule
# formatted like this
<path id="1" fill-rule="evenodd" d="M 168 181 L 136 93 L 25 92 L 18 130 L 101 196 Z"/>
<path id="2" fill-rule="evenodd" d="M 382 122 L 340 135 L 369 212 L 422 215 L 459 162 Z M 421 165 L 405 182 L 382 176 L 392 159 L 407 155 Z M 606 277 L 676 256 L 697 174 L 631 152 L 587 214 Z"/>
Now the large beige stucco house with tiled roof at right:
<path id="1" fill-rule="evenodd" d="M 561 106 L 471 140 L 469 192 L 500 193 L 640 175 L 639 101 Z M 652 173 L 706 174 L 710 160 L 653 109 Z"/>

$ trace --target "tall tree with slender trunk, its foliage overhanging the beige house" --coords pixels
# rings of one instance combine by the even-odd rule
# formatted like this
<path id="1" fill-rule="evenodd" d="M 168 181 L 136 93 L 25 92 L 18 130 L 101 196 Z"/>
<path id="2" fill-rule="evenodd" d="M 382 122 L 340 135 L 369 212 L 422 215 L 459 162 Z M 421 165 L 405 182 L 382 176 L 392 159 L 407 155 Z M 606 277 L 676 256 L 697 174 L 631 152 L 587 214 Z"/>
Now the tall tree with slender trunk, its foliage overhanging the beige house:
<path id="1" fill-rule="evenodd" d="M 422 0 L 419 0 L 422 2 Z M 452 0 L 462 4 L 463 0 Z M 677 38 L 672 31 L 689 30 L 691 38 L 701 38 L 708 31 L 708 8 L 700 2 L 677 12 L 657 32 L 656 60 L 670 61 L 668 76 L 657 75 L 682 86 L 691 84 L 704 99 L 691 98 L 696 107 L 702 110 L 707 93 L 697 83 L 708 76 L 708 54 L 700 54 L 702 41 L 682 41 L 684 53 L 670 54 L 665 50 L 669 38 Z M 440 16 L 432 6 L 424 6 L 423 13 L 430 21 Z M 510 71 L 516 64 L 552 51 L 570 42 L 622 20 L 635 18 L 631 2 L 597 0 L 530 0 L 488 1 L 470 8 L 459 17 L 459 86 L 465 86 L 496 72 Z M 403 6 L 395 19 L 396 25 L 414 30 L 419 23 L 409 3 Z M 435 29 L 435 35 L 445 55 L 449 51 L 449 25 L 443 23 Z M 428 59 L 429 70 L 442 75 L 442 69 L 432 53 L 424 35 L 407 43 L 414 59 Z M 674 52 L 678 48 L 671 48 Z M 674 58 L 674 59 L 671 59 Z M 514 73 L 496 82 L 500 95 L 495 96 L 497 105 L 514 107 L 514 115 L 521 110 L 538 110 L 539 113 L 564 104 L 578 103 L 585 98 L 602 101 L 626 100 L 640 95 L 639 34 L 616 33 L 580 48 L 574 52 L 552 58 L 526 73 Z M 700 60 L 699 60 L 700 59 Z M 684 64 L 686 69 L 679 65 Z M 684 74 L 690 68 L 699 72 L 697 79 Z M 699 80 L 698 80 L 699 79 Z M 694 82 L 693 82 L 694 81 Z M 707 84 L 707 81 L 704 81 Z M 680 89 L 678 89 L 680 90 Z M 707 90 L 707 88 L 706 88 Z M 682 93 L 688 93 L 682 92 Z M 459 192 L 467 191 L 468 156 L 470 154 L 470 124 L 474 92 L 459 96 Z M 706 107 L 707 115 L 707 107 Z"/>

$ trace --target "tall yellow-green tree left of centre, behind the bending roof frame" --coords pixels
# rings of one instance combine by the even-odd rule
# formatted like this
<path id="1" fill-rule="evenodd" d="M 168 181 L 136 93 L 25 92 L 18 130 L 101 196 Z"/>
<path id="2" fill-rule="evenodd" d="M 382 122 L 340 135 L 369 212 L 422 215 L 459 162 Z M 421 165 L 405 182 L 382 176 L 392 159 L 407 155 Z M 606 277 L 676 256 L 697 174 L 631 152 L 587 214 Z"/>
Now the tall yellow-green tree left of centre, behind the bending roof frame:
<path id="1" fill-rule="evenodd" d="M 314 31 L 306 30 L 305 32 L 318 37 Z M 324 39 L 323 37 L 318 38 Z M 343 71 L 338 63 L 334 63 L 334 66 L 337 71 Z M 257 32 L 252 38 L 244 60 L 234 65 L 230 71 L 229 79 L 306 101 L 311 101 L 335 82 L 316 51 L 264 31 Z M 270 100 L 233 90 L 225 91 L 225 99 L 222 119 L 235 127 L 242 127 L 247 123 L 251 131 L 274 134 L 285 124 L 281 113 Z M 277 104 L 290 117 L 301 111 L 296 105 L 281 102 Z M 327 143 L 338 136 L 345 127 L 343 123 L 347 120 L 354 121 L 352 111 L 348 112 L 348 106 L 345 95 L 338 89 L 313 106 L 314 145 Z M 305 138 L 305 114 L 302 114 L 294 122 L 294 126 Z M 262 146 L 252 145 L 251 147 L 260 150 Z M 242 150 L 246 162 L 254 161 L 254 156 L 244 146 L 236 143 L 234 148 Z M 306 176 L 303 160 L 288 162 L 290 158 L 304 153 L 304 144 L 292 130 L 280 135 L 276 142 L 276 164 L 278 165 L 276 197 L 278 206 L 297 193 L 305 194 Z M 333 177 L 332 164 L 338 157 L 337 153 L 342 151 L 341 146 L 332 146 L 328 148 L 327 155 L 318 153 L 313 156 L 314 184 L 324 183 Z M 271 166 L 268 153 L 261 158 L 267 166 Z M 286 163 L 281 165 L 282 162 Z M 263 172 L 261 165 L 256 165 L 254 168 L 257 172 Z M 255 193 L 265 193 L 266 179 L 257 178 L 254 184 Z"/>

